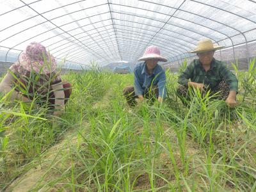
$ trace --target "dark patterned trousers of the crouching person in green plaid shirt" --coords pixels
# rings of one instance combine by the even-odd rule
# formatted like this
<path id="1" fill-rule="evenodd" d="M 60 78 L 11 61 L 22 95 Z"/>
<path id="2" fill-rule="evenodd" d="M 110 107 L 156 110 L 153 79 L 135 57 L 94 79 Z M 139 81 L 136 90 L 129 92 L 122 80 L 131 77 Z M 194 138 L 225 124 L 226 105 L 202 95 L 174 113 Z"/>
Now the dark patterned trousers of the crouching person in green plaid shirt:
<path id="1" fill-rule="evenodd" d="M 220 99 L 220 100 L 227 99 L 228 93 L 229 93 L 229 85 L 225 80 L 220 81 L 220 83 L 216 87 L 212 88 L 210 90 L 210 95 L 214 95 L 215 93 L 218 93 L 218 92 L 219 94 L 215 97 L 215 99 Z M 189 101 L 191 100 L 191 98 L 188 92 L 188 87 L 179 85 L 177 87 L 177 96 L 180 98 L 180 100 L 185 106 L 189 105 Z"/>

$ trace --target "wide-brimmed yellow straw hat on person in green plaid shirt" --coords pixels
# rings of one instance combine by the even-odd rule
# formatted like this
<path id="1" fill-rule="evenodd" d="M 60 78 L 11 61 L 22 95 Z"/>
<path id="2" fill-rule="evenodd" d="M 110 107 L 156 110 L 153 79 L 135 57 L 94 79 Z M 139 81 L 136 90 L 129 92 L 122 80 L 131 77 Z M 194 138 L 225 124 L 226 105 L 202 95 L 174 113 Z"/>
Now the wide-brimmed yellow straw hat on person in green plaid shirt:
<path id="1" fill-rule="evenodd" d="M 213 45 L 211 39 L 205 38 L 200 40 L 197 43 L 197 47 L 194 51 L 190 51 L 190 53 L 200 53 L 200 52 L 207 52 L 207 51 L 215 51 L 217 49 L 221 49 L 223 46 L 220 45 Z"/>

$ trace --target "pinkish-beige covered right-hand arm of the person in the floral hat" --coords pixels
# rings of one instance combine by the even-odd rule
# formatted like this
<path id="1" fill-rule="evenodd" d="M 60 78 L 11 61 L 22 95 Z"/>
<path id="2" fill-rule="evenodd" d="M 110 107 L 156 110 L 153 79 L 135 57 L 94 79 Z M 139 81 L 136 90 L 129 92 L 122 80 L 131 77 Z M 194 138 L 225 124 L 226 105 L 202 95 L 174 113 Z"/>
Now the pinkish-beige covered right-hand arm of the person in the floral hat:
<path id="1" fill-rule="evenodd" d="M 53 112 L 53 115 L 60 116 L 64 109 L 64 99 L 65 99 L 63 85 L 62 83 L 58 83 L 58 84 L 52 84 L 51 87 L 55 96 L 55 105 L 54 105 L 55 111 Z"/>

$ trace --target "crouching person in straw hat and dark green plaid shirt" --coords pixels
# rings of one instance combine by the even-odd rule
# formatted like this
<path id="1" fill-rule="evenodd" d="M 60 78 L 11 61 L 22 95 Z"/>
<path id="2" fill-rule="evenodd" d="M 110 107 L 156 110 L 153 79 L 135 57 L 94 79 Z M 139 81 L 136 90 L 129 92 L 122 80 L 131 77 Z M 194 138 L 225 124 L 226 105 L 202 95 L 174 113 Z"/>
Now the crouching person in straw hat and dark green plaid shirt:
<path id="1" fill-rule="evenodd" d="M 236 106 L 237 78 L 224 63 L 213 57 L 214 51 L 221 48 L 219 45 L 213 45 L 207 38 L 200 40 L 196 49 L 191 51 L 196 53 L 198 59 L 193 60 L 178 79 L 180 86 L 177 95 L 184 104 L 188 104 L 188 87 L 192 87 L 198 88 L 201 92 L 206 90 L 211 90 L 211 93 L 220 92 L 221 99 L 225 99 L 228 106 Z"/>

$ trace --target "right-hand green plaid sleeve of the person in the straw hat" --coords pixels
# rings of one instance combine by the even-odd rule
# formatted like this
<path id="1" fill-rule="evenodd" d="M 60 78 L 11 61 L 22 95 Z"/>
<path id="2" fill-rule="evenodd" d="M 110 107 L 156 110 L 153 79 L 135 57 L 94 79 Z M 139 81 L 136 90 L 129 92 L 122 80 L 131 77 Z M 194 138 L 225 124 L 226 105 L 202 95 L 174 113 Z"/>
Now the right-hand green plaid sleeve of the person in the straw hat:
<path id="1" fill-rule="evenodd" d="M 230 91 L 238 92 L 238 80 L 236 76 L 223 64 L 220 68 L 220 76 L 228 83 Z"/>

